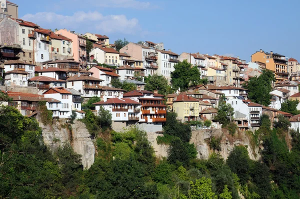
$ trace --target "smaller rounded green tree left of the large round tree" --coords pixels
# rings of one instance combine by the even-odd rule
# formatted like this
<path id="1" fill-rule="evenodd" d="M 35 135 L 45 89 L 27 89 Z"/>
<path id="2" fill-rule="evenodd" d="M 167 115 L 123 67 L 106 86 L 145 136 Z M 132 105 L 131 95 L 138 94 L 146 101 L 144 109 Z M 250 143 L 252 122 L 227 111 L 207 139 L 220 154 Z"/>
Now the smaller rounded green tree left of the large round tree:
<path id="1" fill-rule="evenodd" d="M 145 81 L 145 89 L 149 91 L 157 90 L 159 94 L 167 95 L 167 80 L 162 75 L 153 74 L 149 75 Z"/>

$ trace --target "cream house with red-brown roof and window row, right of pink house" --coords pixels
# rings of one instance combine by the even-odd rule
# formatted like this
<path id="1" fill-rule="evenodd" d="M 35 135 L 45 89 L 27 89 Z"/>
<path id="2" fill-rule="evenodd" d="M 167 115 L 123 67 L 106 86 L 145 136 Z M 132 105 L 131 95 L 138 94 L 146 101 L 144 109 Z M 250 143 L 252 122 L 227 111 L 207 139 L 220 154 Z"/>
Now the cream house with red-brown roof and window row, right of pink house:
<path id="1" fill-rule="evenodd" d="M 95 59 L 98 63 L 120 65 L 119 52 L 110 47 L 102 47 L 100 44 L 93 44 L 93 49 L 89 52 L 90 60 Z"/>

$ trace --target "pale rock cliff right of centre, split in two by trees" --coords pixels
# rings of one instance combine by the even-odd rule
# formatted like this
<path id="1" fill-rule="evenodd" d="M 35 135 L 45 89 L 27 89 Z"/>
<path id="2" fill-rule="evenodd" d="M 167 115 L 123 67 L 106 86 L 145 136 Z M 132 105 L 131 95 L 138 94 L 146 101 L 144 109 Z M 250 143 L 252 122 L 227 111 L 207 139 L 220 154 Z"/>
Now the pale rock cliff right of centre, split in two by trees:
<path id="1" fill-rule="evenodd" d="M 162 134 L 147 133 L 148 139 L 151 142 L 156 156 L 166 157 L 168 146 L 165 144 L 157 144 L 157 136 L 163 136 Z M 221 150 L 218 152 L 224 159 L 227 159 L 230 151 L 236 145 L 245 145 L 248 150 L 249 157 L 253 160 L 258 160 L 260 157 L 259 147 L 252 147 L 248 136 L 244 132 L 236 133 L 235 136 L 229 135 L 227 132 L 223 132 L 222 129 L 203 129 L 192 131 L 190 143 L 194 143 L 196 150 L 198 151 L 197 158 L 207 159 L 213 152 L 209 147 L 209 139 L 214 137 L 222 137 L 220 141 Z"/>

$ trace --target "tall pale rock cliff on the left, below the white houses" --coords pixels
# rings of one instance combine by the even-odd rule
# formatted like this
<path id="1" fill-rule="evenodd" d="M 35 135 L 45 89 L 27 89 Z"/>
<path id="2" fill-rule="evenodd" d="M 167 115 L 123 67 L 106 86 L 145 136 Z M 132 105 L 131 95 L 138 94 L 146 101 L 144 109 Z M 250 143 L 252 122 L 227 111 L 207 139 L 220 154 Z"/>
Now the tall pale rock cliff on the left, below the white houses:
<path id="1" fill-rule="evenodd" d="M 42 128 L 43 140 L 52 151 L 64 142 L 69 142 L 73 150 L 81 155 L 85 169 L 94 162 L 95 147 L 84 123 L 75 120 L 74 124 L 68 127 L 65 120 L 60 119 L 54 121 L 51 126 L 43 125 L 41 122 L 39 125 Z"/>

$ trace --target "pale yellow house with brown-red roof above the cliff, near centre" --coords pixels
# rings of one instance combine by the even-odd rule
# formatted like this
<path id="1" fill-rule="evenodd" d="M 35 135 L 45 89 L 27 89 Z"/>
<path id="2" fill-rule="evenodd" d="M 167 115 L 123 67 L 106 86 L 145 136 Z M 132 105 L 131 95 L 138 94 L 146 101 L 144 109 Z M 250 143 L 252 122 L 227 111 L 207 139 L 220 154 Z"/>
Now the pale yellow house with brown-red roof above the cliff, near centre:
<path id="1" fill-rule="evenodd" d="M 199 100 L 186 94 L 174 97 L 173 111 L 182 122 L 199 120 Z"/>

